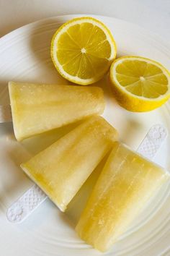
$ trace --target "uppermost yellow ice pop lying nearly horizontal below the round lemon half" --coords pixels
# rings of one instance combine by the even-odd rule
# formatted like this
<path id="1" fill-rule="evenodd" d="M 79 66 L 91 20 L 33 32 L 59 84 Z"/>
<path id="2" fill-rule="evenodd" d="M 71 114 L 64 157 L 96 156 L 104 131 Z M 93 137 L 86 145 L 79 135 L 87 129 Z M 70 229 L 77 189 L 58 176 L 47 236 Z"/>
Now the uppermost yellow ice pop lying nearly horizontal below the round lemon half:
<path id="1" fill-rule="evenodd" d="M 101 88 L 9 82 L 17 140 L 62 127 L 104 111 Z"/>

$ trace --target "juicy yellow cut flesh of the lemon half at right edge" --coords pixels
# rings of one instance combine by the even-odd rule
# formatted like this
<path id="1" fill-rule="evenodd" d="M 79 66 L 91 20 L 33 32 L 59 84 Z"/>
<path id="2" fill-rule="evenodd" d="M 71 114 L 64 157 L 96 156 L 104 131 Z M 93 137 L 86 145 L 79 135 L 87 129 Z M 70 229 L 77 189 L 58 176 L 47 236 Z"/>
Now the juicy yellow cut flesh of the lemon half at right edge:
<path id="1" fill-rule="evenodd" d="M 130 93 L 158 98 L 168 90 L 169 81 L 160 67 L 147 61 L 126 60 L 116 68 L 118 82 Z"/>

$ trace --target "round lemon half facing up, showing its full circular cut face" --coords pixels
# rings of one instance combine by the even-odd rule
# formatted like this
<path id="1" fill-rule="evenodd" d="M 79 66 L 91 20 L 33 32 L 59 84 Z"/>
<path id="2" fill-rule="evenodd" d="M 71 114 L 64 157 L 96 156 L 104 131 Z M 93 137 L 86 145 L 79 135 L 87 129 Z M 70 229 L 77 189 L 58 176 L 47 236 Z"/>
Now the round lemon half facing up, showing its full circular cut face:
<path id="1" fill-rule="evenodd" d="M 79 17 L 56 31 L 50 52 L 55 68 L 63 77 L 79 85 L 89 85 L 108 71 L 116 56 L 116 45 L 102 22 Z"/>

